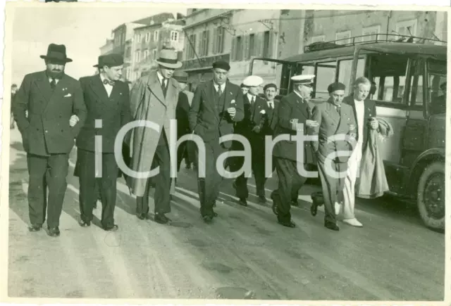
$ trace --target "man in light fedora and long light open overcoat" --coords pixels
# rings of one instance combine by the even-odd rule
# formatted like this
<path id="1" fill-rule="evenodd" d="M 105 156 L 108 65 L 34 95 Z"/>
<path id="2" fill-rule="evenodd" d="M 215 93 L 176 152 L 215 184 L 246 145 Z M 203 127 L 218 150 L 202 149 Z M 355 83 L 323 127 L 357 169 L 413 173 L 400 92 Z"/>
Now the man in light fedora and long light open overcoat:
<path id="1" fill-rule="evenodd" d="M 175 120 L 175 108 L 180 87 L 173 79 L 175 69 L 182 66 L 177 53 L 163 49 L 156 60 L 158 69 L 135 82 L 130 92 L 130 110 L 133 120 L 147 120 L 159 125 L 160 132 L 147 127 L 135 127 L 130 137 L 130 168 L 135 172 L 149 172 L 159 167 L 152 177 L 155 184 L 154 219 L 160 224 L 171 221 L 171 156 L 168 137 L 171 120 Z M 137 217 L 149 219 L 149 178 L 129 177 L 128 186 L 137 196 Z"/>

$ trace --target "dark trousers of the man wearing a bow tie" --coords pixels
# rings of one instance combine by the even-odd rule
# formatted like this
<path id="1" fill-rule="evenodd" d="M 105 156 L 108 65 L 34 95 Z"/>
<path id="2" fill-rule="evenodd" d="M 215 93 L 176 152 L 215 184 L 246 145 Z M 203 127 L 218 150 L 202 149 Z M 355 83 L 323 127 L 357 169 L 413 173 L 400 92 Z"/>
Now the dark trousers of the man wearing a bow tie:
<path id="1" fill-rule="evenodd" d="M 118 179 L 118 165 L 114 153 L 101 154 L 101 177 L 95 177 L 95 153 L 82 149 L 77 150 L 80 171 L 80 218 L 83 222 L 91 222 L 94 218 L 92 210 L 97 202 L 100 189 L 101 195 L 101 225 L 114 225 L 114 208 L 116 208 L 116 181 Z M 98 187 L 97 187 L 97 186 Z"/>

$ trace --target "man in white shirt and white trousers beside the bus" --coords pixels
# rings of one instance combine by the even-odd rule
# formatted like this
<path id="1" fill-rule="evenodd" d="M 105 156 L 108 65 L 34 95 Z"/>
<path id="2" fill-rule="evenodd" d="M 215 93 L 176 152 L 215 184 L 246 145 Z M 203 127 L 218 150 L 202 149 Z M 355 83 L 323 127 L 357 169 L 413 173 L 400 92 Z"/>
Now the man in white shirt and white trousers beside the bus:
<path id="1" fill-rule="evenodd" d="M 366 77 L 358 77 L 354 82 L 354 92 L 343 99 L 343 103 L 352 106 L 357 122 L 357 146 L 347 162 L 347 175 L 345 189 L 343 191 L 343 204 L 335 205 L 337 215 L 342 213 L 343 222 L 353 227 L 362 227 L 362 223 L 354 215 L 355 191 L 354 186 L 360 172 L 362 151 L 368 141 L 368 129 L 377 129 L 379 122 L 376 120 L 376 102 L 366 99 L 371 89 L 371 82 Z"/>

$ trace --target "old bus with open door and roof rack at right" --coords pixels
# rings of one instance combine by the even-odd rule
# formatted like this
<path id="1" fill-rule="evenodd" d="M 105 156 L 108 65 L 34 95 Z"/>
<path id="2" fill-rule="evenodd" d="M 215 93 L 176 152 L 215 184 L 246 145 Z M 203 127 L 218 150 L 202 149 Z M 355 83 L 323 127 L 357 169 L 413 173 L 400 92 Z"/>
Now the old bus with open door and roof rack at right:
<path id="1" fill-rule="evenodd" d="M 376 113 L 394 132 L 378 143 L 388 193 L 416 205 L 426 227 L 443 231 L 446 42 L 383 36 L 314 43 L 285 59 L 252 58 L 249 75 L 259 60 L 275 65 L 279 99 L 292 91 L 293 75 L 316 75 L 312 103 L 326 101 L 332 82 L 346 84 L 351 94 L 354 79 L 367 77 L 373 84 L 369 98 L 376 101 Z"/>

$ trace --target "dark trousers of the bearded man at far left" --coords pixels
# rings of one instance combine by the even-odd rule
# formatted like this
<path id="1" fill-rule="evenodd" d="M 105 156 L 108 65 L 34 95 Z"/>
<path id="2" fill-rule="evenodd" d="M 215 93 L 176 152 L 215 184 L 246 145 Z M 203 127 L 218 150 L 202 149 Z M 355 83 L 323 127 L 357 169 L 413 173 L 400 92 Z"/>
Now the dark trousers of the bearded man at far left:
<path id="1" fill-rule="evenodd" d="M 31 224 L 42 225 L 47 206 L 47 226 L 59 227 L 63 201 L 67 189 L 68 154 L 40 156 L 27 154 L 30 176 L 28 184 L 28 210 Z M 47 187 L 49 198 L 47 201 Z"/>

